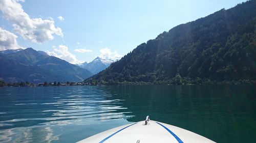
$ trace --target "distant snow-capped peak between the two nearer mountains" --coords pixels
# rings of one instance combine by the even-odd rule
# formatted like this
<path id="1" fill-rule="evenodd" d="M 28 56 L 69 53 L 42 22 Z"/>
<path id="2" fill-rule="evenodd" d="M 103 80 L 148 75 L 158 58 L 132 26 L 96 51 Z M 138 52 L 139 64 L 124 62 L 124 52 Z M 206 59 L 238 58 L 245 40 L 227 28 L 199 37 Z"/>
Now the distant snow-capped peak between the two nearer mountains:
<path id="1" fill-rule="evenodd" d="M 114 62 L 113 60 L 104 60 L 102 58 L 97 57 L 92 62 L 90 63 L 84 62 L 79 66 L 81 68 L 89 70 L 93 74 L 97 74 L 100 71 L 108 68 L 113 62 Z"/>

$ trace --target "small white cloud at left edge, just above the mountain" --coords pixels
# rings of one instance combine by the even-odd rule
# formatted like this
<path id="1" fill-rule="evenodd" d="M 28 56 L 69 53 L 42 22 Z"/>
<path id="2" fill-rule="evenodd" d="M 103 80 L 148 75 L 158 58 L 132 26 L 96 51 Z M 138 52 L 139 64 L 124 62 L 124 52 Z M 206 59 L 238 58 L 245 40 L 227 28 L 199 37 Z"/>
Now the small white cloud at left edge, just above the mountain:
<path id="1" fill-rule="evenodd" d="M 17 36 L 0 27 L 0 50 L 18 49 Z"/>

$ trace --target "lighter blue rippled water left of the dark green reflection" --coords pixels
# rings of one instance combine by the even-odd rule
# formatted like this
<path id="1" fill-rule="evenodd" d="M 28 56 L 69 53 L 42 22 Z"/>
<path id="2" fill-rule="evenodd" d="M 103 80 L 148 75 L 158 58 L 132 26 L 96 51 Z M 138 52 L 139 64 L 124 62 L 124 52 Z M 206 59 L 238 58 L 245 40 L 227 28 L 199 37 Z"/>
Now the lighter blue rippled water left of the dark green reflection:
<path id="1" fill-rule="evenodd" d="M 102 87 L 1 89 L 0 142 L 61 142 L 65 140 L 62 133 L 75 136 L 78 131 L 74 126 L 82 125 L 84 129 L 106 124 L 106 128 L 111 128 L 111 122 L 118 119 L 121 121 L 117 125 L 127 124 L 127 107 L 122 106 L 122 100 L 107 99 L 110 97 Z M 85 131 L 88 133 L 70 139 L 71 142 L 98 132 Z"/>

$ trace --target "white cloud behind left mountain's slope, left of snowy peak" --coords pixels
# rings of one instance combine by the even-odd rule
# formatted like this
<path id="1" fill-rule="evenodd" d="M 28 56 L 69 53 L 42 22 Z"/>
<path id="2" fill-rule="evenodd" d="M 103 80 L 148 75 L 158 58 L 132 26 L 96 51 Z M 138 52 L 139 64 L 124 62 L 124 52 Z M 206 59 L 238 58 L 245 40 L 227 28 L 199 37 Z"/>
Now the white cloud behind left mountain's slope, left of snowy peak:
<path id="1" fill-rule="evenodd" d="M 66 45 L 59 45 L 54 51 L 46 51 L 49 55 L 56 56 L 59 59 L 65 60 L 71 64 L 80 64 L 84 61 L 77 60 L 76 55 L 69 52 L 69 48 Z"/>

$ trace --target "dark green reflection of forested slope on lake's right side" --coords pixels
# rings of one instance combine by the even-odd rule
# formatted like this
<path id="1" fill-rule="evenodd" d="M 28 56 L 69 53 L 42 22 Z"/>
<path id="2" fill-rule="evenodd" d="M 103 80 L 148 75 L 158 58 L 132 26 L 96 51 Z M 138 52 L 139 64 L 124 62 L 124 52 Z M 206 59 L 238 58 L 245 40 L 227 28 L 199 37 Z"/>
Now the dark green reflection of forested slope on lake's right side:
<path id="1" fill-rule="evenodd" d="M 172 124 L 217 142 L 254 142 L 254 85 L 141 85 L 105 88 L 129 108 L 129 122 Z M 246 133 L 245 133 L 246 132 Z M 227 134 L 228 133 L 228 134 Z M 253 135 L 254 134 L 254 135 Z"/>

